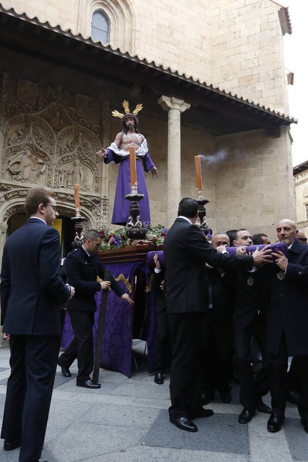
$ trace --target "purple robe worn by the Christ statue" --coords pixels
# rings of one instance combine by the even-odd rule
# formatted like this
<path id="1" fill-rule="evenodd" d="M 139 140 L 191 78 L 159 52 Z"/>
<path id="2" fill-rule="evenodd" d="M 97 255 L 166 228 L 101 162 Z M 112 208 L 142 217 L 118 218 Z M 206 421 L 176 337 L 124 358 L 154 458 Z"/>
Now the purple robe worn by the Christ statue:
<path id="1" fill-rule="evenodd" d="M 129 204 L 130 202 L 125 199 L 126 194 L 130 194 L 130 167 L 129 167 L 129 158 L 120 157 L 114 154 L 111 149 L 107 149 L 107 157 L 104 158 L 105 164 L 109 162 L 120 163 L 117 187 L 115 189 L 114 204 L 113 204 L 113 213 L 111 218 L 112 224 L 125 225 L 129 217 Z M 138 192 L 144 195 L 144 198 L 139 202 L 140 205 L 140 221 L 143 223 L 150 223 L 150 206 L 148 192 L 145 182 L 145 177 L 143 170 L 146 172 L 151 168 L 155 167 L 150 158 L 149 153 L 140 159 L 136 160 L 136 169 L 137 169 L 137 182 L 138 182 Z"/>

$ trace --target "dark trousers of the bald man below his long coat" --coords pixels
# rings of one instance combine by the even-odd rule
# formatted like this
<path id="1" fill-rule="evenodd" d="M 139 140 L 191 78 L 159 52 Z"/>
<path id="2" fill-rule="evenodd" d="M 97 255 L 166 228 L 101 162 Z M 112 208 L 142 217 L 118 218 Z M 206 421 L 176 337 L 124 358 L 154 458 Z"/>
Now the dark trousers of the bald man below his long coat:
<path id="1" fill-rule="evenodd" d="M 286 342 L 284 336 L 282 336 L 278 355 L 269 354 L 269 361 L 271 362 L 272 409 L 280 417 L 284 417 L 286 405 L 285 378 L 287 358 Z M 296 356 L 295 358 L 296 369 L 299 374 L 299 402 L 297 408 L 300 416 L 308 417 L 308 356 Z"/>

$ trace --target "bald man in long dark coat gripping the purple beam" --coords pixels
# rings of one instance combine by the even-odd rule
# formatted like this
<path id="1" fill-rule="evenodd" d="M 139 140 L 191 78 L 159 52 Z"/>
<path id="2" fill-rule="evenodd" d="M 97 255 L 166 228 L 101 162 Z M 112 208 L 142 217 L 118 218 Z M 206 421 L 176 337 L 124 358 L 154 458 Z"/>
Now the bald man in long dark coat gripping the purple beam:
<path id="1" fill-rule="evenodd" d="M 308 433 L 308 246 L 297 239 L 292 220 L 277 224 L 277 237 L 288 246 L 287 258 L 273 253 L 276 264 L 271 281 L 271 301 L 267 312 L 267 349 L 271 362 L 273 413 L 267 422 L 269 432 L 281 429 L 286 396 L 284 380 L 288 356 L 296 358 L 299 372 L 298 412 Z"/>

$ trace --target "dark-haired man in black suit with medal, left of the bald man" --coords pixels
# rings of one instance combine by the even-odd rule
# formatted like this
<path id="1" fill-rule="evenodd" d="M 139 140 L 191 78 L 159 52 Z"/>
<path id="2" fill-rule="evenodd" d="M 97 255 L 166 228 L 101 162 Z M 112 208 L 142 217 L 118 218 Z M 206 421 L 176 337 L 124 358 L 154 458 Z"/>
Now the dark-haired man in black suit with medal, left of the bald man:
<path id="1" fill-rule="evenodd" d="M 252 245 L 251 234 L 246 229 L 238 230 L 234 246 L 242 255 L 246 246 Z M 266 275 L 261 271 L 236 272 L 236 296 L 233 313 L 235 365 L 240 378 L 240 402 L 243 410 L 239 424 L 247 424 L 259 412 L 271 414 L 271 408 L 262 401 L 269 391 L 269 362 L 266 349 L 265 309 L 267 300 L 263 285 Z M 252 367 L 252 340 L 255 338 L 262 354 L 262 368 L 254 380 Z"/>

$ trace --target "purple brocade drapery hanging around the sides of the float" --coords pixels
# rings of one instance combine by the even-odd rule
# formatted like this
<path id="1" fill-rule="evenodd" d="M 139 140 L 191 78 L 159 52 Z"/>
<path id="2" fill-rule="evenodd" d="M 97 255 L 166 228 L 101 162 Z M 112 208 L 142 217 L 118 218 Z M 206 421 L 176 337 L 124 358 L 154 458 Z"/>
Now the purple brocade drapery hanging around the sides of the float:
<path id="1" fill-rule="evenodd" d="M 138 269 L 142 269 L 146 274 L 147 284 L 151 274 L 145 262 L 109 263 L 104 266 L 111 271 L 114 277 L 123 274 L 132 285 L 134 284 L 135 274 Z M 119 283 L 122 284 L 121 282 Z M 149 372 L 155 370 L 156 356 L 156 318 L 153 297 L 153 291 L 147 294 L 144 330 L 148 348 Z M 93 326 L 94 350 L 97 341 L 101 298 L 102 293 L 98 292 L 95 296 L 98 309 L 95 312 Z M 110 291 L 105 318 L 101 366 L 120 371 L 127 377 L 130 376 L 131 370 L 132 321 L 131 306 L 125 303 L 113 291 Z M 73 331 L 70 318 L 66 314 L 61 346 L 67 348 L 72 338 Z"/>

